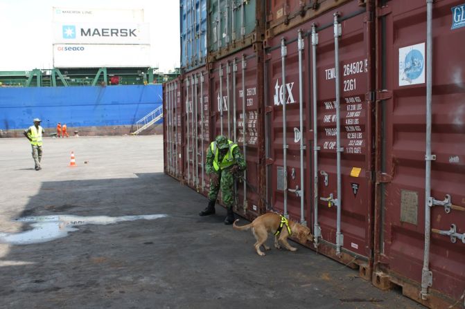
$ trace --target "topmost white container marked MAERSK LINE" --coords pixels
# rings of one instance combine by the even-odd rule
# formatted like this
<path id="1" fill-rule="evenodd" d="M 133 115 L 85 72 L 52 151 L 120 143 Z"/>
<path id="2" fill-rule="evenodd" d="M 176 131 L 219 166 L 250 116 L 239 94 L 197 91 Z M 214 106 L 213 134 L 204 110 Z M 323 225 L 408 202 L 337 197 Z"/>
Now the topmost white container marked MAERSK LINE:
<path id="1" fill-rule="evenodd" d="M 141 9 L 100 9 L 100 8 L 52 8 L 53 21 L 58 22 L 101 22 L 114 21 L 134 23 L 143 22 L 143 10 Z"/>

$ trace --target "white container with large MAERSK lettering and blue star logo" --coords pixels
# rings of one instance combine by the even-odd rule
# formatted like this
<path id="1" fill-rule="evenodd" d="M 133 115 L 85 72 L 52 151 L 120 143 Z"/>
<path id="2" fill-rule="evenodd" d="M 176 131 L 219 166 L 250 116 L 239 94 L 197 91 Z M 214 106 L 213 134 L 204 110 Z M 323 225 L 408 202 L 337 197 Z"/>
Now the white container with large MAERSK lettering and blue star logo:
<path id="1" fill-rule="evenodd" d="M 54 22 L 53 44 L 150 44 L 148 23 Z"/>

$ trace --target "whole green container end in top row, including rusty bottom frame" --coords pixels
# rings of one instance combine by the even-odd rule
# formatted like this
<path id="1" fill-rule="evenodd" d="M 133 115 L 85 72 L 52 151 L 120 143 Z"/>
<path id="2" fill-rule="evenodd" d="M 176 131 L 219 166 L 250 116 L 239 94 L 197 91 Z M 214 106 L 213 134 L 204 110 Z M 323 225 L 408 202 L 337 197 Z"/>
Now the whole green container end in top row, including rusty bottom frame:
<path id="1" fill-rule="evenodd" d="M 264 4 L 261 0 L 209 0 L 209 62 L 263 41 Z"/>

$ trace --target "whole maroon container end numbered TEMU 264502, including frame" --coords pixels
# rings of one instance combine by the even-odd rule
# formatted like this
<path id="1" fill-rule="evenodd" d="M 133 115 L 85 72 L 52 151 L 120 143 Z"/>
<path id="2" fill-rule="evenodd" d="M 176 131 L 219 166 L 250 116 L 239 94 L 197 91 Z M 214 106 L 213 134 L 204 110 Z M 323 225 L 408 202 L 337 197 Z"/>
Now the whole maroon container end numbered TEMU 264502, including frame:
<path id="1" fill-rule="evenodd" d="M 356 1 L 335 10 L 267 39 L 267 201 L 369 279 L 374 32 Z"/>

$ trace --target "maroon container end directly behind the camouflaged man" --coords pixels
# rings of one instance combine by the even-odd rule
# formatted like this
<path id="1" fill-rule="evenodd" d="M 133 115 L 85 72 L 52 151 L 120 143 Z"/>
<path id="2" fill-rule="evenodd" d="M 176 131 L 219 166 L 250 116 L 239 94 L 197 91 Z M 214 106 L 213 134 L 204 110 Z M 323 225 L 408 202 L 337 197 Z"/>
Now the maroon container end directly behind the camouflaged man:
<path id="1" fill-rule="evenodd" d="M 235 210 L 249 218 L 262 214 L 265 209 L 261 197 L 264 189 L 261 185 L 264 181 L 261 53 L 252 47 L 241 50 L 213 63 L 210 74 L 213 98 L 210 109 L 214 123 L 211 138 L 222 133 L 236 142 L 245 155 L 247 171 L 245 182 L 236 185 Z"/>

